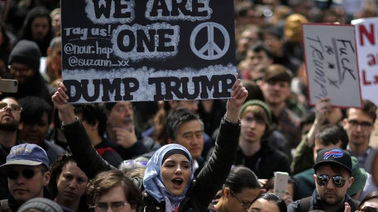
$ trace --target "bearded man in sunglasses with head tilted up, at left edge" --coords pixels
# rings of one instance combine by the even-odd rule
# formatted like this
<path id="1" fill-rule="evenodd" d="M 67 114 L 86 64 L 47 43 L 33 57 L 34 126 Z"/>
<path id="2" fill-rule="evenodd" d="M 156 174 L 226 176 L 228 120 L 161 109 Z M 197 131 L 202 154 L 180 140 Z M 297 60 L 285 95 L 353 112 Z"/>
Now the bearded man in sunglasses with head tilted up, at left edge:
<path id="1" fill-rule="evenodd" d="M 3 98 L 0 101 L 0 165 L 6 163 L 6 157 L 13 146 L 21 144 L 17 131 L 23 128 L 20 123 L 22 108 L 13 98 Z M 0 169 L 0 199 L 9 195 L 8 178 L 5 169 Z"/>

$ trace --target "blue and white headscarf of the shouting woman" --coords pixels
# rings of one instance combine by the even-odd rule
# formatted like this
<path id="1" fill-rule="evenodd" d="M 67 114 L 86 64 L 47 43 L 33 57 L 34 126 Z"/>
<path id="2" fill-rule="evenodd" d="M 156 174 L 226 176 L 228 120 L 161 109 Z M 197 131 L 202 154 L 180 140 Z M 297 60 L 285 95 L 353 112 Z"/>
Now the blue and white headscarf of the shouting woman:
<path id="1" fill-rule="evenodd" d="M 163 177 L 161 176 L 161 165 L 163 164 L 164 155 L 172 149 L 181 149 L 189 156 L 191 175 L 186 188 L 179 197 L 174 197 L 165 187 Z M 168 144 L 160 147 L 147 163 L 147 169 L 143 177 L 143 186 L 147 193 L 157 201 L 165 201 L 166 212 L 173 212 L 175 207 L 184 200 L 189 187 L 194 178 L 193 160 L 187 149 L 179 144 Z"/>

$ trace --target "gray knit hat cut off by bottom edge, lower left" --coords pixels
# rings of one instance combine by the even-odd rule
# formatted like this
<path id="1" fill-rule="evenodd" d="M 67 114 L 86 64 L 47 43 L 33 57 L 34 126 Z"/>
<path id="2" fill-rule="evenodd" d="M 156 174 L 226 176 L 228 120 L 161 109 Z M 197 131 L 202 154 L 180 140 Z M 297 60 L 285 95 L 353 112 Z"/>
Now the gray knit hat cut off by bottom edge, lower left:
<path id="1" fill-rule="evenodd" d="M 56 202 L 46 198 L 33 198 L 26 201 L 17 212 L 25 212 L 29 209 L 38 209 L 43 212 L 63 212 L 63 209 Z"/>

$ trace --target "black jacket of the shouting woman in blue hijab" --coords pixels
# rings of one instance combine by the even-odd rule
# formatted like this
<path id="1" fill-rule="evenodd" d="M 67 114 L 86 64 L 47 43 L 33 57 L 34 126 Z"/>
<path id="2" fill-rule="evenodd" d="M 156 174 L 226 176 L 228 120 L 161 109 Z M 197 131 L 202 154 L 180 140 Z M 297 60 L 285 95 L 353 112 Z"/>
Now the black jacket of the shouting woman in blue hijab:
<path id="1" fill-rule="evenodd" d="M 81 121 L 63 126 L 63 132 L 68 145 L 75 157 L 77 166 L 88 176 L 93 178 L 101 171 L 115 169 L 97 154 L 91 146 L 88 135 Z M 203 167 L 187 191 L 186 197 L 180 203 L 180 212 L 203 212 L 206 211 L 216 192 L 221 189 L 226 180 L 231 166 L 235 160 L 236 147 L 240 134 L 240 121 L 232 124 L 222 119 L 220 130 L 215 143 L 215 149 L 208 163 Z M 89 160 L 90 158 L 90 160 Z M 133 181 L 139 189 L 144 190 L 142 179 L 135 178 Z M 139 207 L 140 212 L 164 212 L 165 203 L 154 200 L 147 192 L 143 191 L 143 203 Z"/>

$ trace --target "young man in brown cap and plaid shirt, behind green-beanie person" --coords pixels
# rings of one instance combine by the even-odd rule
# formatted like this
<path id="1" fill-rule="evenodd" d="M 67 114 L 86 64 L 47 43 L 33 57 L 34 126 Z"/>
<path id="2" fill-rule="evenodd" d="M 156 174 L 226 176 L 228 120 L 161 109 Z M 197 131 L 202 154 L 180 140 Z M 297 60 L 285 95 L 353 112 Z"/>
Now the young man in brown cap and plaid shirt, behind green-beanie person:
<path id="1" fill-rule="evenodd" d="M 261 90 L 265 97 L 265 103 L 276 118 L 277 130 L 285 136 L 291 148 L 295 148 L 301 140 L 299 128 L 301 120 L 287 108 L 285 103 L 291 94 L 291 78 L 292 74 L 284 66 L 270 65 L 266 69 Z"/>

